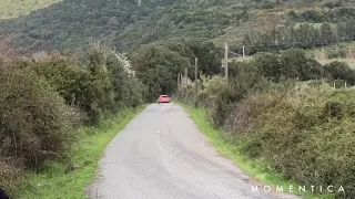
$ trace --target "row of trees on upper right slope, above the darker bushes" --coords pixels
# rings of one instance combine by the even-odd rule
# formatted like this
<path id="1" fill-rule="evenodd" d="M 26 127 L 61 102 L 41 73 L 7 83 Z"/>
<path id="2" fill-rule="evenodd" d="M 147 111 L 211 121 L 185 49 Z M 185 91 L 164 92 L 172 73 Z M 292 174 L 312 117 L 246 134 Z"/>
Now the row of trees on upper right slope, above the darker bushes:
<path id="1" fill-rule="evenodd" d="M 282 51 L 292 48 L 313 49 L 339 42 L 355 41 L 355 20 L 348 20 L 337 24 L 322 23 L 321 27 L 313 23 L 298 23 L 288 28 L 274 29 L 253 39 L 245 34 L 243 45 L 246 54 L 255 54 L 265 51 Z M 242 53 L 237 49 L 239 53 Z"/>

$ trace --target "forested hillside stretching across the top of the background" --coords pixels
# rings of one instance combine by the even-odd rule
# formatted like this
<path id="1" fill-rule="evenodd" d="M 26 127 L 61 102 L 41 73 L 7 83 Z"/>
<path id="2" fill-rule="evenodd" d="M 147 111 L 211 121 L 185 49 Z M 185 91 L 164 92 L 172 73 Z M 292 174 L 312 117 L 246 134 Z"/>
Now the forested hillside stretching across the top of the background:
<path id="1" fill-rule="evenodd" d="M 355 39 L 354 2 L 322 0 L 64 0 L 31 14 L 1 20 L 0 35 L 22 30 L 23 50 L 74 49 L 109 38 L 122 51 L 186 38 L 247 45 L 247 53 L 312 48 Z M 310 27 L 310 23 L 317 22 Z M 326 22 L 326 23 L 325 23 Z M 239 49 L 236 49 L 239 51 Z"/>

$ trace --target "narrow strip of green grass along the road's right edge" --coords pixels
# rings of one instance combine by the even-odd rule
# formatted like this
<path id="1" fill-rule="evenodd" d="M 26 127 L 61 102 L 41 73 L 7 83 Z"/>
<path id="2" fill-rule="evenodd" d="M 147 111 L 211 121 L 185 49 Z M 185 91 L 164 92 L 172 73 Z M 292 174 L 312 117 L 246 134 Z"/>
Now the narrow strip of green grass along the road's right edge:
<path id="1" fill-rule="evenodd" d="M 284 188 L 284 192 L 290 192 L 290 186 L 293 187 L 293 195 L 300 196 L 305 199 L 333 199 L 334 196 L 331 195 L 315 195 L 310 192 L 310 188 L 306 187 L 306 192 L 300 191 L 300 185 L 292 180 L 286 180 L 282 175 L 270 171 L 267 165 L 262 160 L 251 160 L 246 156 L 243 156 L 239 146 L 231 140 L 223 137 L 223 133 L 220 129 L 215 129 L 206 119 L 205 111 L 203 108 L 194 108 L 182 103 L 178 103 L 182 106 L 191 116 L 193 122 L 200 128 L 200 130 L 207 137 L 207 139 L 213 144 L 214 148 L 224 157 L 231 159 L 239 168 L 243 170 L 246 175 L 252 177 L 254 180 L 262 185 L 267 185 L 271 187 L 280 186 Z M 252 187 L 251 187 L 252 191 Z M 264 191 L 264 190 L 258 190 Z"/>

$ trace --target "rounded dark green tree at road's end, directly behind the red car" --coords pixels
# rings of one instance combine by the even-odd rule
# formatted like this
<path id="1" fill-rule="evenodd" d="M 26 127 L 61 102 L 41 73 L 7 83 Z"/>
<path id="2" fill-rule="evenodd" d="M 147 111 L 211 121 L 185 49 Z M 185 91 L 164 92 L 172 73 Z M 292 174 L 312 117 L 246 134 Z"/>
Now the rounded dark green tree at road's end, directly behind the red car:
<path id="1" fill-rule="evenodd" d="M 178 85 L 178 74 L 192 71 L 190 59 L 163 45 L 142 45 L 129 54 L 136 77 L 148 86 L 148 100 L 155 102 L 162 94 L 171 95 Z"/>

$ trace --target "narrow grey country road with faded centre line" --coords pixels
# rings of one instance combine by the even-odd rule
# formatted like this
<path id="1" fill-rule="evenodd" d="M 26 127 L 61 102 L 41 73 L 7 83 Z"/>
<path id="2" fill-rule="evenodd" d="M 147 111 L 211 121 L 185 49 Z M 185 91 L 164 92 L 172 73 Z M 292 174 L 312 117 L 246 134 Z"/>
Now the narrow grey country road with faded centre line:
<path id="1" fill-rule="evenodd" d="M 175 104 L 154 104 L 108 146 L 89 188 L 93 199 L 296 198 L 253 191 L 255 182 L 219 156 Z"/>

